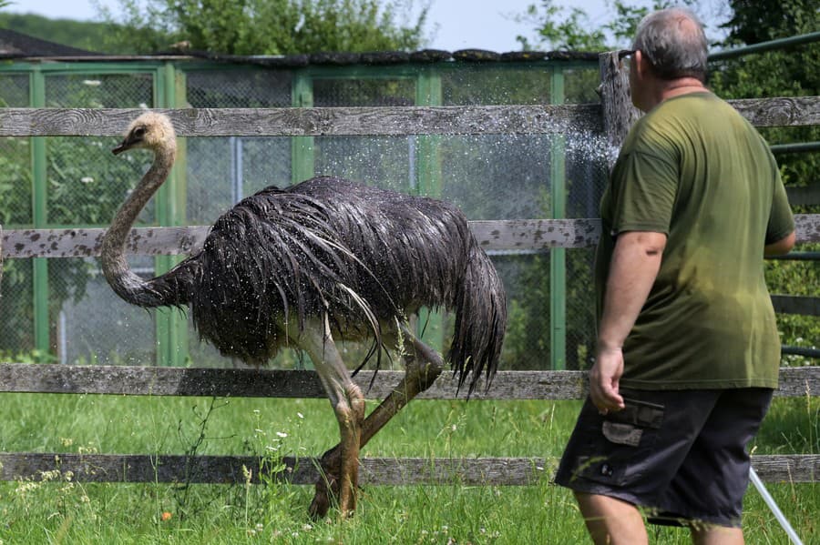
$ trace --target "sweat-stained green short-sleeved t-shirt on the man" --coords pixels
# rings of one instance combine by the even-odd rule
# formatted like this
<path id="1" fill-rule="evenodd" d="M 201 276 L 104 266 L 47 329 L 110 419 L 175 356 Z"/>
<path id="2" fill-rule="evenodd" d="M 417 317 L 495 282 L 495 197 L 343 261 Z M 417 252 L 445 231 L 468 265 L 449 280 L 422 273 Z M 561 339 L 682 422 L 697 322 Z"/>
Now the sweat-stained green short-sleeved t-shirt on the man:
<path id="1" fill-rule="evenodd" d="M 788 236 L 794 218 L 753 126 L 708 92 L 665 100 L 632 127 L 600 208 L 599 318 L 616 236 L 667 235 L 624 343 L 621 385 L 777 388 L 780 339 L 764 245 Z"/>

